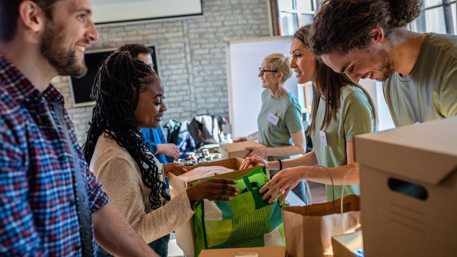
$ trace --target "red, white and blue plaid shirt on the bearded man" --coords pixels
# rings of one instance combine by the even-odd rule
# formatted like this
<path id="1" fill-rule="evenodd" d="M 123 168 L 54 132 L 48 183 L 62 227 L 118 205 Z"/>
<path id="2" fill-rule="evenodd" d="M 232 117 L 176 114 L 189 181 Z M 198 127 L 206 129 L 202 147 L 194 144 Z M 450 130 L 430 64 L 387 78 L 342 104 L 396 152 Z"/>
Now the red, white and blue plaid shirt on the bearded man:
<path id="1" fill-rule="evenodd" d="M 56 118 L 63 96 L 40 92 L 0 54 L 0 256 L 80 256 L 74 166 L 80 165 L 93 213 L 108 202 L 89 171 L 73 123 Z M 52 117 L 51 117 L 52 116 Z M 79 163 L 62 126 L 69 128 Z M 92 228 L 92 249 L 95 255 Z"/>

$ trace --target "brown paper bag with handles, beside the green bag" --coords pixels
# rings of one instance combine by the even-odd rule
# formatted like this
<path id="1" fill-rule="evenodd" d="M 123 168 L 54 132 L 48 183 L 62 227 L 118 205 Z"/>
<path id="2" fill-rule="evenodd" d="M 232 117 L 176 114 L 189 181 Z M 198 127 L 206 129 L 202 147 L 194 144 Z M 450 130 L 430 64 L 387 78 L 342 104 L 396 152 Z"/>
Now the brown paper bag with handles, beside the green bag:
<path id="1" fill-rule="evenodd" d="M 308 186 L 308 175 L 316 167 L 322 166 L 315 166 L 308 171 L 305 190 Z M 329 173 L 333 186 L 330 171 L 322 168 Z M 341 200 L 335 200 L 334 195 L 332 202 L 283 207 L 282 215 L 289 257 L 332 256 L 332 237 L 352 233 L 361 226 L 360 198 L 357 195 L 348 195 Z"/>

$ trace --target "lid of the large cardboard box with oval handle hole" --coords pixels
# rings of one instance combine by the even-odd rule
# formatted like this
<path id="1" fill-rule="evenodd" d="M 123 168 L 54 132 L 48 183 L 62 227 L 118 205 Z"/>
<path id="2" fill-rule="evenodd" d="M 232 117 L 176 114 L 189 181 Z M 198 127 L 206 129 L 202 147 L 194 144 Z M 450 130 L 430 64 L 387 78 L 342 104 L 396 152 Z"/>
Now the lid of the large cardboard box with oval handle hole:
<path id="1" fill-rule="evenodd" d="M 357 162 L 399 177 L 436 185 L 457 170 L 457 116 L 356 136 L 354 142 Z"/>

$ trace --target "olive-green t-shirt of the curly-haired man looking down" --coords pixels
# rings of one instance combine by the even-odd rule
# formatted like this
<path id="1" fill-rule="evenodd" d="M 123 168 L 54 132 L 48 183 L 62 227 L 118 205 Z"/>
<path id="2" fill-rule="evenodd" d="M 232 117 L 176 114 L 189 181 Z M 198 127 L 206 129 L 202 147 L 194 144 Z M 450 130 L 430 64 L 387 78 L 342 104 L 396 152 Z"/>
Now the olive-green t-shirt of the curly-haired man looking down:
<path id="1" fill-rule="evenodd" d="M 411 74 L 383 88 L 396 127 L 457 115 L 457 36 L 427 34 Z"/>

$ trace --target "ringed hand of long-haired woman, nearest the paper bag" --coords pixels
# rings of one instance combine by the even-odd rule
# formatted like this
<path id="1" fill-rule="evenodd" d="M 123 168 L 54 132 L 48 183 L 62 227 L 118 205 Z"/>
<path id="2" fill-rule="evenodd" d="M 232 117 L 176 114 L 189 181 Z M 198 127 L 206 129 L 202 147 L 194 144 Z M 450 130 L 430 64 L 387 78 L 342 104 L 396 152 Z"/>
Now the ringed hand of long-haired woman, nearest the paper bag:
<path id="1" fill-rule="evenodd" d="M 279 204 L 281 205 L 284 203 L 289 191 L 293 187 L 297 186 L 300 180 L 304 179 L 303 174 L 307 170 L 304 168 L 306 168 L 306 166 L 288 168 L 278 172 L 270 181 L 268 181 L 267 184 L 260 188 L 260 193 L 268 190 L 262 199 L 267 200 L 267 198 L 271 196 L 271 199 L 268 201 L 268 203 L 271 204 L 275 202 L 281 194 L 283 194 Z"/>

